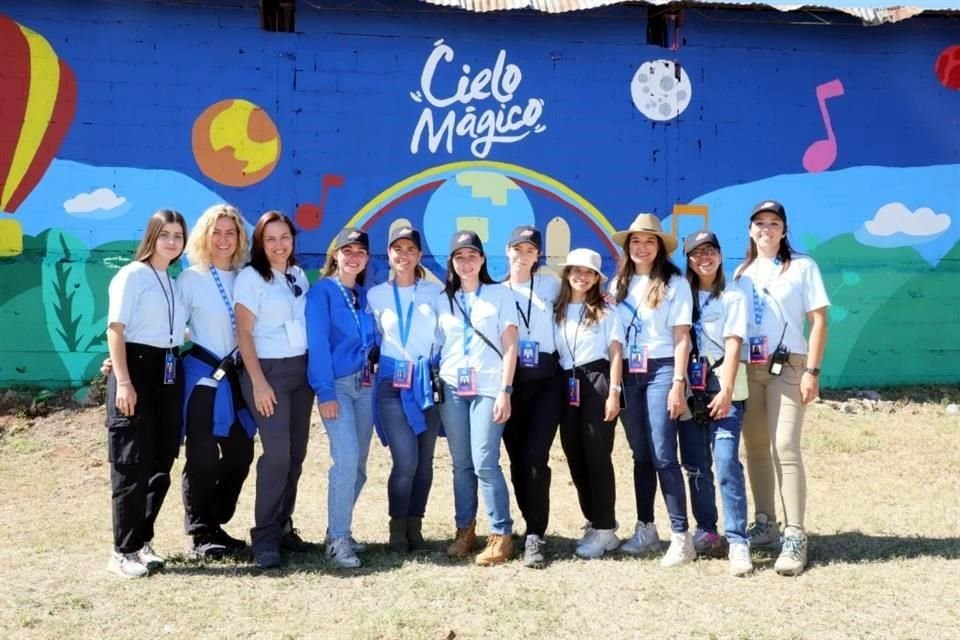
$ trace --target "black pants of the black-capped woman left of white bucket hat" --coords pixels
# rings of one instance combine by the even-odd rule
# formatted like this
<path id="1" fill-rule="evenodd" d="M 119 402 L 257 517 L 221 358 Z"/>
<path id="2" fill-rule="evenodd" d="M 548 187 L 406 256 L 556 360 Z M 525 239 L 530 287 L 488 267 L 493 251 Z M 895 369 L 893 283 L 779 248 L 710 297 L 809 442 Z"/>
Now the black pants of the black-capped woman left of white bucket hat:
<path id="1" fill-rule="evenodd" d="M 514 385 L 503 443 L 510 479 L 527 534 L 543 536 L 550 518 L 550 448 L 563 414 L 564 379 L 552 376 Z"/>

